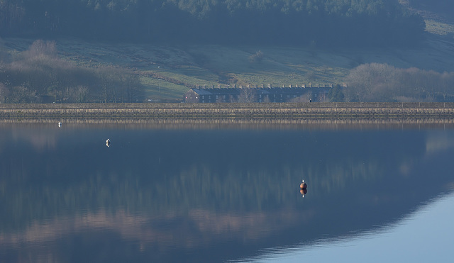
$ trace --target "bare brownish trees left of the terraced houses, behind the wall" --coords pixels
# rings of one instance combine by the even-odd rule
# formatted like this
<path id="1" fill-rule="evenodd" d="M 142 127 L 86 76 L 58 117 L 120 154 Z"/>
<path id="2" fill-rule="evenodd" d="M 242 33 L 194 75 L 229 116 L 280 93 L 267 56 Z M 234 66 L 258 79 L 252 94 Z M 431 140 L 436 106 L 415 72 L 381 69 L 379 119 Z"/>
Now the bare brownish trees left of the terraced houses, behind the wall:
<path id="1" fill-rule="evenodd" d="M 36 40 L 15 56 L 0 52 L 0 103 L 131 102 L 142 94 L 130 69 L 72 65 L 58 57 L 55 41 Z"/>

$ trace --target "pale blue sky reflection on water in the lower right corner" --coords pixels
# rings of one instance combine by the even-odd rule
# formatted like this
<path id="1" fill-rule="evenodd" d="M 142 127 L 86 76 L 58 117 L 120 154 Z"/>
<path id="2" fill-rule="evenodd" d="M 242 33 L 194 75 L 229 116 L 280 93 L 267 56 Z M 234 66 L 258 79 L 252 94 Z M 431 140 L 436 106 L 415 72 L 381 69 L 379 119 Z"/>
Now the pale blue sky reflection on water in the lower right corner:
<path id="1" fill-rule="evenodd" d="M 436 198 L 395 224 L 348 238 L 264 251 L 244 262 L 450 262 L 454 194 Z"/>

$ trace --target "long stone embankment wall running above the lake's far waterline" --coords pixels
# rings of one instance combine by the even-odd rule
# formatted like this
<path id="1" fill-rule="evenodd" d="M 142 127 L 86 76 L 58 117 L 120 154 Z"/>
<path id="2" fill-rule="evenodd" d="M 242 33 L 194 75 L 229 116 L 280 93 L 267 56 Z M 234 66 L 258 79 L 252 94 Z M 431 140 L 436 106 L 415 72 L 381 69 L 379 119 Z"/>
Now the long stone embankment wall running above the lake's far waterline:
<path id="1" fill-rule="evenodd" d="M 0 104 L 0 118 L 406 118 L 454 116 L 454 103 Z"/>

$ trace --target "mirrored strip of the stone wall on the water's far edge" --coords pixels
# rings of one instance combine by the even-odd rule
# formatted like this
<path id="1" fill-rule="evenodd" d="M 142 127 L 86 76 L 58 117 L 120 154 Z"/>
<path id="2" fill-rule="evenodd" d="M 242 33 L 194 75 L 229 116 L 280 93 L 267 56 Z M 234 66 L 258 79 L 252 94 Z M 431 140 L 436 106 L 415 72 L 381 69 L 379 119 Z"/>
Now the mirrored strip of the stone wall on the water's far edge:
<path id="1" fill-rule="evenodd" d="M 55 127 L 62 118 L 0 118 L 0 127 L 18 125 L 21 128 Z M 314 118 L 65 118 L 63 125 L 72 128 L 89 128 L 97 125 L 102 128 L 126 129 L 298 129 L 298 130 L 362 130 L 389 128 L 454 128 L 451 117 L 314 117 Z"/>

